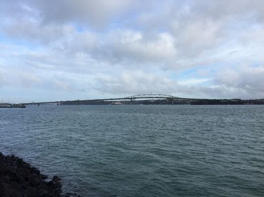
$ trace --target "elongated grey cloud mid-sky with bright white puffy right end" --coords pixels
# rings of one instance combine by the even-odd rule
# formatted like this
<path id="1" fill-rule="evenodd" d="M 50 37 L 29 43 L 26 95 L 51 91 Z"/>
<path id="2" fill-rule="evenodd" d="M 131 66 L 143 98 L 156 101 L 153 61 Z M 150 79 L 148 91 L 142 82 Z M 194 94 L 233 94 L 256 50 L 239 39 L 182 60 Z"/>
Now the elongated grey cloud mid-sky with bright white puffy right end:
<path id="1" fill-rule="evenodd" d="M 107 34 L 76 33 L 72 40 L 61 46 L 58 50 L 68 56 L 85 54 L 99 63 L 122 64 L 124 67 L 168 64 L 177 57 L 171 35 L 160 33 L 146 40 L 140 31 L 127 29 L 112 30 Z"/>

